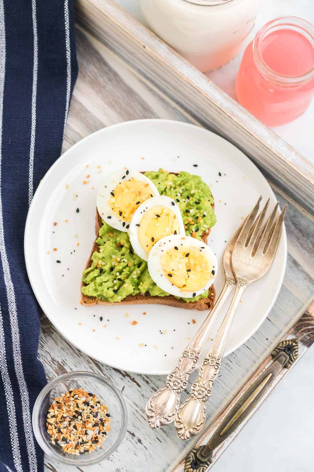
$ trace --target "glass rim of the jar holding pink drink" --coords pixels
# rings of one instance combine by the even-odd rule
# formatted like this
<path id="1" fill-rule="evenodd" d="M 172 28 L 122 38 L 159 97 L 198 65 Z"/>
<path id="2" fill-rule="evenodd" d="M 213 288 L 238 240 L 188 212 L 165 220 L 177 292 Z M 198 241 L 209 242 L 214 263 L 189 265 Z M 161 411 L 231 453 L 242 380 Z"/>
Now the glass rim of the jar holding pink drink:
<path id="1" fill-rule="evenodd" d="M 267 21 L 256 34 L 253 40 L 253 58 L 255 59 L 259 70 L 268 80 L 287 86 L 303 85 L 314 77 L 314 64 L 313 67 L 311 67 L 304 74 L 289 76 L 276 72 L 266 64 L 262 57 L 260 51 L 261 42 L 267 34 L 279 29 L 298 31 L 298 33 L 301 33 L 306 37 L 314 49 L 314 25 L 299 17 L 277 17 Z"/>

